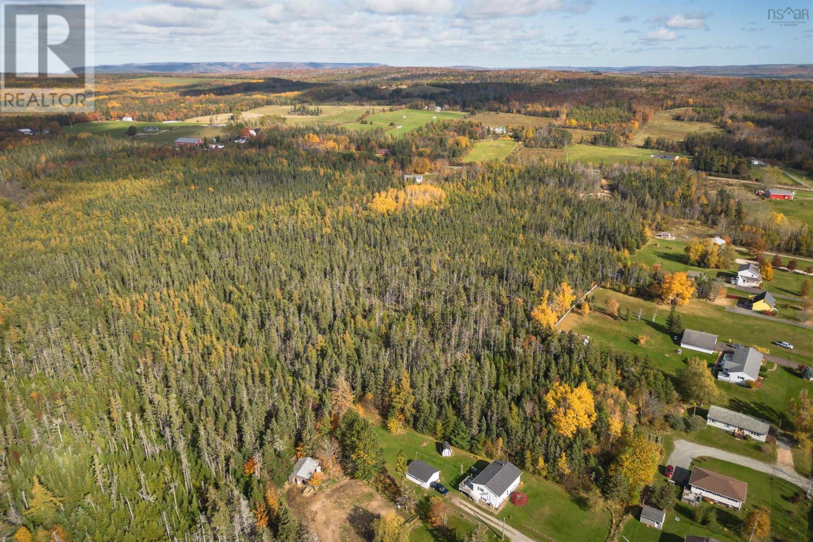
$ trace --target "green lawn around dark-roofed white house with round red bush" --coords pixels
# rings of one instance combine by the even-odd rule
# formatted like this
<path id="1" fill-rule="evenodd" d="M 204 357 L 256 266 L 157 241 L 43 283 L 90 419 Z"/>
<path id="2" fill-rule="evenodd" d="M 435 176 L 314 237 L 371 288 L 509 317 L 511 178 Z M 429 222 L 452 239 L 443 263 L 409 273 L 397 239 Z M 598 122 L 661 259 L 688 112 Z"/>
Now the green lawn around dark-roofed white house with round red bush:
<path id="1" fill-rule="evenodd" d="M 395 461 L 398 451 L 403 450 L 410 460 L 417 457 L 437 467 L 441 471 L 441 483 L 450 490 L 450 495 L 460 498 L 468 497 L 458 492 L 457 485 L 465 475 L 460 474 L 461 466 L 465 473 L 470 466 L 477 464 L 480 469 L 488 465 L 489 459 L 454 448 L 451 457 L 441 457 L 437 452 L 437 440 L 431 436 L 407 429 L 399 435 L 393 435 L 384 428 L 376 431 L 384 447 L 385 466 L 391 475 L 395 475 Z M 424 445 L 425 443 L 425 445 Z M 424 491 L 415 485 L 419 496 L 437 495 L 433 490 Z M 506 523 L 523 531 L 534 540 L 541 540 L 538 533 L 543 533 L 554 540 L 572 540 L 573 533 L 579 533 L 579 540 L 603 541 L 610 530 L 610 516 L 606 510 L 589 511 L 582 509 L 572 496 L 559 485 L 542 479 L 539 476 L 522 473 L 522 483 L 517 491 L 528 495 L 528 505 L 516 506 L 506 502 L 497 518 L 506 519 Z M 446 498 L 448 499 L 447 496 Z M 483 514 L 492 514 L 483 508 Z M 422 527 L 426 528 L 426 527 Z M 413 538 L 413 540 L 415 540 Z M 436 539 L 437 540 L 437 539 Z"/>

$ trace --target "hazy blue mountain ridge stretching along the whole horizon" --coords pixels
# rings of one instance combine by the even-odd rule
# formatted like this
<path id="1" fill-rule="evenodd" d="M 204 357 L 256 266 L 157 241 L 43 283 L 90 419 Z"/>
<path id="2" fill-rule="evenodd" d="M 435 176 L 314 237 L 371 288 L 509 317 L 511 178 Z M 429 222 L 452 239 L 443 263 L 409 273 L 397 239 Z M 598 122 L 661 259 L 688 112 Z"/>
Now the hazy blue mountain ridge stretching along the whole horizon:
<path id="1" fill-rule="evenodd" d="M 102 64 L 96 73 L 228 73 L 275 70 L 341 70 L 355 67 L 389 67 L 388 64 L 359 62 L 163 62 Z M 731 66 L 541 66 L 480 67 L 447 66 L 459 70 L 556 70 L 559 72 L 602 72 L 641 74 L 695 74 L 702 76 L 813 78 L 813 64 L 747 64 Z"/>

